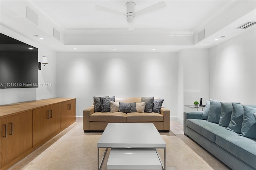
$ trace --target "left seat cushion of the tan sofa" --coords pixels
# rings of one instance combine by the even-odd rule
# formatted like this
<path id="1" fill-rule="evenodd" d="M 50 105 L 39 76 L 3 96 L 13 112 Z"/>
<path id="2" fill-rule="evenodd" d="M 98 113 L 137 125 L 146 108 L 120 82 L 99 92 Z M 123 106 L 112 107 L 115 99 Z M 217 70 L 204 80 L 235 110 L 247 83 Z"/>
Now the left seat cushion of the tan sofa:
<path id="1" fill-rule="evenodd" d="M 92 122 L 126 122 L 126 113 L 122 112 L 95 112 L 90 115 L 89 121 Z"/>

